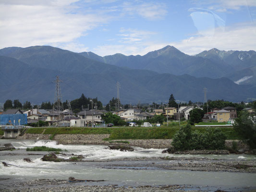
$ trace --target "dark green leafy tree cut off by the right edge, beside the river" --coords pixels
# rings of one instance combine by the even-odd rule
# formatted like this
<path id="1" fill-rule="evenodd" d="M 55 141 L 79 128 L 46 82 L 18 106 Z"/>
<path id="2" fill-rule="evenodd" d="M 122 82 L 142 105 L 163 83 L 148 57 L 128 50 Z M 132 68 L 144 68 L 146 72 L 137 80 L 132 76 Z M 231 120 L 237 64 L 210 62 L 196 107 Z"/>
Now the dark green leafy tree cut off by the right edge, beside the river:
<path id="1" fill-rule="evenodd" d="M 256 116 L 248 111 L 240 111 L 233 127 L 251 149 L 256 149 Z"/>

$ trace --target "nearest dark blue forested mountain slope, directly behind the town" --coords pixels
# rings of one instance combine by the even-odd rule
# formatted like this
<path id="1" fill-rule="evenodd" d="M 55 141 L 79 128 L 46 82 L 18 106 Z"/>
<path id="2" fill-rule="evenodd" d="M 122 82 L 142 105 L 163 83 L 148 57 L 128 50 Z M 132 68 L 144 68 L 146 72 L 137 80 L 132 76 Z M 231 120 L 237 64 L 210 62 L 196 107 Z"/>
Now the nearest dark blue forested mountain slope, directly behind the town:
<path id="1" fill-rule="evenodd" d="M 246 85 L 234 84 L 227 78 L 195 78 L 190 75 L 175 76 L 158 74 L 145 70 L 122 69 L 105 73 L 63 72 L 52 69 L 32 67 L 19 60 L 0 56 L 0 102 L 7 99 L 29 100 L 34 103 L 53 101 L 55 76 L 62 80 L 63 100 L 74 99 L 82 93 L 98 97 L 108 103 L 116 97 L 116 82 L 121 84 L 122 103 L 167 102 L 172 93 L 176 99 L 203 101 L 203 88 L 208 88 L 208 99 L 241 101 L 256 96 L 256 89 Z"/>

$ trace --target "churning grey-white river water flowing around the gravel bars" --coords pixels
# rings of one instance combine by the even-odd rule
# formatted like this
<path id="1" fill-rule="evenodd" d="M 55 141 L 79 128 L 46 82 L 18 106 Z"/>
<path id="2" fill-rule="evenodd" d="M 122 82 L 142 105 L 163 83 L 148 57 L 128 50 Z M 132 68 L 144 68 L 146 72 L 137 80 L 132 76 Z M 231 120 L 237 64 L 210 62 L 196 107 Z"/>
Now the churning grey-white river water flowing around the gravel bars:
<path id="1" fill-rule="evenodd" d="M 134 147 L 133 152 L 122 152 L 110 150 L 102 145 L 62 145 L 55 141 L 33 141 L 33 140 L 0 140 L 3 143 L 12 143 L 16 148 L 13 151 L 1 151 L 0 161 L 16 165 L 4 167 L 0 164 L 0 178 L 11 178 L 12 180 L 34 180 L 34 179 L 77 179 L 107 180 L 102 184 L 118 185 L 194 185 L 215 186 L 224 189 L 235 189 L 250 187 L 256 188 L 255 173 L 234 173 L 215 171 L 191 171 L 191 170 L 168 170 L 150 166 L 142 167 L 145 161 L 130 161 L 125 158 L 149 158 L 149 157 L 206 157 L 207 159 L 246 160 L 254 159 L 252 155 L 172 155 L 162 154 L 162 149 L 143 149 Z M 41 157 L 48 152 L 27 152 L 27 147 L 48 146 L 67 150 L 67 154 L 83 155 L 84 160 L 96 160 L 96 162 L 47 162 Z M 28 155 L 30 153 L 30 155 Z M 31 155 L 34 154 L 34 155 Z M 28 163 L 23 158 L 30 158 L 34 163 Z M 65 158 L 69 158 L 66 156 Z M 107 161 L 123 159 L 122 161 Z M 106 162 L 97 162 L 106 160 Z M 166 162 L 167 160 L 165 160 Z M 158 164 L 161 160 L 146 160 L 146 164 Z M 113 164 L 125 165 L 112 168 Z"/>

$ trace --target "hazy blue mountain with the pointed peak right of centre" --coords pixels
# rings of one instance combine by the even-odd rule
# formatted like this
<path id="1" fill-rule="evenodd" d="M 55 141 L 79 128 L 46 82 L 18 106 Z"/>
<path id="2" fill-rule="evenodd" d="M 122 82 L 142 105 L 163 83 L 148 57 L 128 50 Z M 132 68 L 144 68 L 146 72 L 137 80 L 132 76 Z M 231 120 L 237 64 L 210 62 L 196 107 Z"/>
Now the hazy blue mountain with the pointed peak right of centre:
<path id="1" fill-rule="evenodd" d="M 89 52 L 80 54 L 92 58 Z M 144 56 L 114 54 L 94 58 L 100 61 L 103 60 L 108 64 L 130 69 L 144 69 L 175 75 L 189 74 L 196 77 L 219 78 L 229 73 L 232 68 L 230 65 L 223 65 L 223 61 L 186 55 L 173 46 L 166 46 L 165 48 L 151 51 Z"/>

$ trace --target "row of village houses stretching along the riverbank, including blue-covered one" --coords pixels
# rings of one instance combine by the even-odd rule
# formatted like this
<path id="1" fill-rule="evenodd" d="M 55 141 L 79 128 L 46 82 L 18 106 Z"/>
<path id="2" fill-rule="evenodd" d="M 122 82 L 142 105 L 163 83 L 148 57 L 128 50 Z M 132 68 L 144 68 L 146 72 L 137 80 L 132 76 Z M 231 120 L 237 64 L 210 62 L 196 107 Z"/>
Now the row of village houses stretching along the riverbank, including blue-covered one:
<path id="1" fill-rule="evenodd" d="M 116 114 L 121 117 L 122 120 L 126 122 L 131 122 L 134 120 L 148 120 L 154 117 L 154 115 L 164 115 L 172 120 L 189 120 L 189 112 L 193 109 L 193 106 L 181 106 L 180 108 L 164 108 L 154 109 L 153 112 L 142 111 L 138 108 L 121 109 L 118 111 L 112 111 L 112 114 Z M 247 111 L 252 112 L 252 108 L 245 108 Z M 21 109 L 7 109 L 1 112 L 0 116 L 5 116 L 6 118 L 1 118 L 1 125 L 12 124 L 12 125 L 23 125 L 28 126 L 32 123 L 37 123 L 38 120 L 48 122 L 49 126 L 59 126 L 59 127 L 106 127 L 105 121 L 102 119 L 106 110 L 88 110 L 74 114 L 69 109 L 63 111 L 56 111 L 53 109 L 30 109 L 27 111 Z M 18 122 L 15 118 L 16 115 L 24 114 L 24 119 Z M 237 110 L 233 107 L 225 108 L 212 108 L 210 112 L 206 113 L 203 121 L 216 120 L 218 122 L 228 122 L 232 121 L 237 117 Z M 16 119 L 16 122 L 15 122 Z"/>

